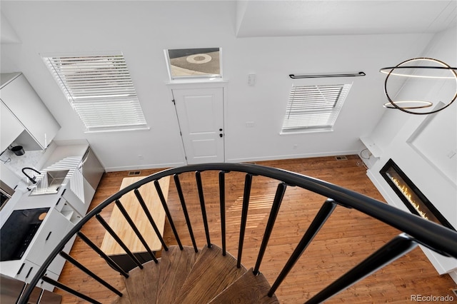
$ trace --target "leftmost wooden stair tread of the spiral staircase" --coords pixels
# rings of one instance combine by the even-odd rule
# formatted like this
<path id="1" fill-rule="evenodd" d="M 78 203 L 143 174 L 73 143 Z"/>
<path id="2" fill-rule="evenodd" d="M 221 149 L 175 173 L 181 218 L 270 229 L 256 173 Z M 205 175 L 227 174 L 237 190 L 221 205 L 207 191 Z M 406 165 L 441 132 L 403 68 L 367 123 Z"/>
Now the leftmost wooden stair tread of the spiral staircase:
<path id="1" fill-rule="evenodd" d="M 126 290 L 128 290 L 127 296 L 130 302 L 119 302 L 121 303 L 155 303 L 159 281 L 159 269 L 161 259 L 159 263 L 155 263 L 154 260 L 145 263 L 143 269 L 134 268 L 129 272 L 129 278 L 124 278 L 126 283 Z M 124 298 L 124 299 L 123 299 Z M 121 297 L 126 300 L 126 295 Z"/>

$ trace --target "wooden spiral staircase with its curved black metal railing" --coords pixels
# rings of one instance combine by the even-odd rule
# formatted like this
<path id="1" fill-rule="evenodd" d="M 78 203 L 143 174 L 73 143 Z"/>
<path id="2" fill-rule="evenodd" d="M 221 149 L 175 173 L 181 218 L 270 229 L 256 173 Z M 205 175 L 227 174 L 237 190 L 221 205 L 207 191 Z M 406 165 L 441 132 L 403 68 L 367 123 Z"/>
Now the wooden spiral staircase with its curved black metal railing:
<path id="1" fill-rule="evenodd" d="M 209 229 L 208 213 L 206 211 L 205 193 L 202 182 L 202 172 L 212 171 L 219 174 L 219 216 L 218 223 L 221 225 L 221 235 L 218 244 L 211 242 L 211 231 Z M 244 175 L 243 200 L 241 218 L 239 219 L 238 248 L 236 257 L 234 253 L 229 253 L 226 246 L 226 176 L 236 172 Z M 181 187 L 180 175 L 184 173 L 194 173 L 196 192 L 199 196 L 201 221 L 204 226 L 206 244 L 198 248 L 194 237 L 194 228 L 189 218 L 186 205 L 186 195 Z M 181 238 L 174 226 L 174 220 L 169 206 L 164 197 L 159 181 L 161 178 L 173 177 L 176 191 L 179 194 L 181 211 L 186 218 L 191 244 L 183 245 Z M 265 230 L 261 236 L 261 245 L 256 253 L 255 265 L 241 264 L 243 257 L 243 242 L 246 235 L 246 219 L 251 198 L 251 183 L 254 176 L 268 178 L 277 184 L 276 193 L 271 203 L 268 214 L 268 221 Z M 160 234 L 157 234 L 156 223 L 148 208 L 144 206 L 144 198 L 139 192 L 139 188 L 148 183 L 154 183 L 157 193 L 159 193 L 161 206 L 164 208 L 169 226 L 173 231 L 174 242 L 167 244 Z M 286 264 L 281 270 L 277 271 L 276 278 L 268 282 L 261 273 L 263 257 L 268 251 L 268 242 L 280 212 L 281 202 L 287 187 L 298 187 L 318 193 L 326 198 L 322 203 L 316 216 L 309 224 L 306 232 L 301 236 L 298 243 L 293 244 L 293 253 L 288 256 Z M 144 243 L 149 254 L 146 262 L 141 262 L 134 253 L 124 244 L 119 235 L 115 235 L 116 241 L 124 248 L 126 256 L 131 259 L 136 267 L 125 269 L 118 265 L 109 255 L 104 253 L 93 240 L 81 232 L 86 223 L 91 219 L 96 219 L 107 231 L 111 228 L 106 225 L 104 219 L 100 216 L 101 211 L 111 204 L 121 206 L 121 198 L 127 193 L 134 193 L 139 205 L 144 210 L 146 217 L 151 224 L 150 233 L 156 233 L 163 250 L 161 253 L 154 253 L 146 242 L 144 235 L 136 229 L 136 223 L 129 221 L 129 214 L 125 214 L 126 220 L 129 221 L 131 228 L 135 231 L 136 236 Z M 211 193 L 214 196 L 215 193 Z M 367 275 L 375 272 L 383 266 L 391 263 L 393 260 L 405 255 L 417 245 L 421 244 L 426 248 L 441 253 L 442 255 L 457 258 L 457 232 L 449 228 L 439 226 L 436 223 L 427 221 L 411 213 L 406 213 L 391 206 L 376 201 L 373 198 L 364 196 L 361 193 L 350 191 L 346 188 L 336 186 L 325 181 L 303 176 L 290 171 L 283 171 L 278 168 L 269 168 L 264 166 L 234 164 L 234 163 L 210 163 L 201 165 L 184 166 L 181 168 L 171 168 L 169 170 L 154 173 L 141 181 L 133 183 L 131 186 L 121 189 L 113 196 L 107 198 L 104 202 L 90 211 L 74 228 L 61 240 L 61 243 L 53 250 L 39 269 L 38 273 L 31 280 L 29 288 L 19 298 L 19 304 L 28 303 L 33 288 L 41 282 L 50 283 L 61 290 L 75 295 L 89 303 L 103 303 L 104 299 L 95 299 L 84 293 L 84 290 L 77 290 L 78 286 L 67 286 L 46 276 L 46 269 L 52 263 L 57 255 L 61 255 L 69 263 L 79 268 L 98 281 L 104 288 L 111 290 L 116 294 L 114 303 L 278 303 L 275 292 L 279 285 L 290 273 L 297 260 L 303 254 L 306 255 L 306 248 L 312 242 L 319 230 L 324 226 L 328 218 L 331 217 L 336 206 L 342 208 L 352 208 L 360 211 L 367 216 L 375 218 L 378 221 L 386 223 L 388 226 L 396 228 L 401 233 L 389 240 L 381 248 L 368 255 L 358 265 L 349 269 L 330 285 L 323 286 L 323 289 L 313 295 L 307 303 L 321 303 L 333 295 L 345 290 L 349 286 L 365 278 Z M 122 207 L 121 207 L 122 208 Z M 212 213 L 211 213 L 212 214 Z M 214 223 L 214 221 L 213 221 Z M 110 232 L 112 233 L 112 231 Z M 104 278 L 100 278 L 91 270 L 82 265 L 79 261 L 64 253 L 64 245 L 78 235 L 93 250 L 94 256 L 104 258 L 113 271 L 121 275 L 124 283 L 123 288 L 115 288 Z M 233 235 L 230 235 L 233 236 Z M 220 244 L 219 244 L 220 240 Z M 231 255 L 233 254 L 233 255 Z M 159 257 L 160 256 L 160 257 Z"/>

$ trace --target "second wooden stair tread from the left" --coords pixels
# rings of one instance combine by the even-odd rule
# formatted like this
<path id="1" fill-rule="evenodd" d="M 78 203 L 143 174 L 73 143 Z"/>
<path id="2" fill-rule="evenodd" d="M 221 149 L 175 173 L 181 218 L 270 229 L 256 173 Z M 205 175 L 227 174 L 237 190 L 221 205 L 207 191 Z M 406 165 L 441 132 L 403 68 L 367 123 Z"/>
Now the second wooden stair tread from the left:
<path id="1" fill-rule="evenodd" d="M 199 253 L 193 247 L 170 246 L 162 250 L 156 303 L 172 303 L 194 267 Z"/>

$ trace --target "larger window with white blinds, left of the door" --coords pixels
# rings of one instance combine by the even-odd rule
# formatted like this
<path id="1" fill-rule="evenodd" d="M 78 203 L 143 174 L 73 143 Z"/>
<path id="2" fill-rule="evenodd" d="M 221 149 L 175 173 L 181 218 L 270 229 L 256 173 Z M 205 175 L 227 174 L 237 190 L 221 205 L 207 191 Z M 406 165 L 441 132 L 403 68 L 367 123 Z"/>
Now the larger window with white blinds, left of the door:
<path id="1" fill-rule="evenodd" d="M 43 59 L 86 131 L 148 128 L 121 53 Z"/>

